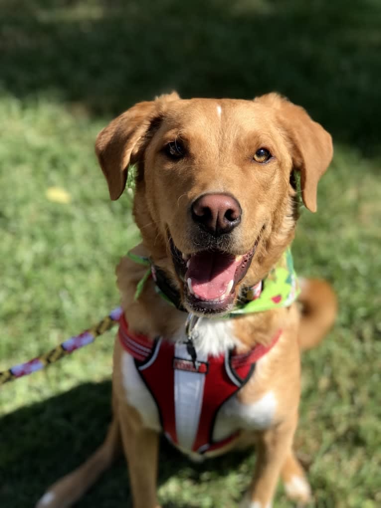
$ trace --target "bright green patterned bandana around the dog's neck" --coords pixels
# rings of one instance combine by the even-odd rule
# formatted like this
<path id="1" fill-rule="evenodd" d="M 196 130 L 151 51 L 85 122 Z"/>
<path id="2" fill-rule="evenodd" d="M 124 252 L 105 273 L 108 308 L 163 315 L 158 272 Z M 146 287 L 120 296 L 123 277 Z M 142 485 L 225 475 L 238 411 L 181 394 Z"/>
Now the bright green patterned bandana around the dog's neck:
<path id="1" fill-rule="evenodd" d="M 137 284 L 135 300 L 137 300 L 144 284 L 151 275 L 151 261 L 144 256 L 138 256 L 131 251 L 127 253 L 128 257 L 139 265 L 147 266 L 148 269 Z M 161 291 L 156 285 L 156 292 L 171 305 L 174 303 Z M 250 292 L 250 290 L 248 290 Z M 224 317 L 238 317 L 242 314 L 251 312 L 264 312 L 278 307 L 289 307 L 299 296 L 300 289 L 298 278 L 294 270 L 291 249 L 283 252 L 278 263 L 272 268 L 267 277 L 262 281 L 262 292 L 256 299 L 237 305 L 229 314 Z"/>

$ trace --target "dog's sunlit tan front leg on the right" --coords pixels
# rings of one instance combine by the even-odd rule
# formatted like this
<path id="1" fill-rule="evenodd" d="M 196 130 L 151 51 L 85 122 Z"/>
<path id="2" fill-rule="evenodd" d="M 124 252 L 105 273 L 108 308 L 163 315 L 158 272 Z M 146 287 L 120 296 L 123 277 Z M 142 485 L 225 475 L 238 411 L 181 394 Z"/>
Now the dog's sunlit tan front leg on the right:
<path id="1" fill-rule="evenodd" d="M 254 477 L 240 508 L 271 508 L 280 470 L 291 452 L 296 425 L 295 417 L 259 434 Z"/>

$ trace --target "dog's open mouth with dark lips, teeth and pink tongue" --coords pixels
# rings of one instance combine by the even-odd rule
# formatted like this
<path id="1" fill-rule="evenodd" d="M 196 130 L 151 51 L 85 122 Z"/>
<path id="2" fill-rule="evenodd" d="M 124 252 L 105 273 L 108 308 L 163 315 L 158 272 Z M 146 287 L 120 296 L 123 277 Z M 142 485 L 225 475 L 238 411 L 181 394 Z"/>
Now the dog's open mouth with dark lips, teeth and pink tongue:
<path id="1" fill-rule="evenodd" d="M 219 250 L 181 252 L 170 239 L 175 270 L 184 282 L 184 303 L 193 312 L 222 313 L 230 310 L 236 285 L 245 276 L 258 245 L 244 255 Z"/>

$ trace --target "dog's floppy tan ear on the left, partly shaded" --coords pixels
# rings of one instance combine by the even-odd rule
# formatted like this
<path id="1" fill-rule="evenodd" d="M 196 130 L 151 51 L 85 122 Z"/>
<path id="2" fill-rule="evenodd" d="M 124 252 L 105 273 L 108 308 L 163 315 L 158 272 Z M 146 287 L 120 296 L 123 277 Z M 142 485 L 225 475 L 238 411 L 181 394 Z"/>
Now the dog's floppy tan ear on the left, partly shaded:
<path id="1" fill-rule="evenodd" d="M 173 92 L 155 101 L 139 102 L 112 120 L 98 134 L 96 154 L 112 200 L 121 196 L 128 167 L 136 162 L 150 126 L 160 117 L 161 106 L 176 99 L 179 96 Z"/>

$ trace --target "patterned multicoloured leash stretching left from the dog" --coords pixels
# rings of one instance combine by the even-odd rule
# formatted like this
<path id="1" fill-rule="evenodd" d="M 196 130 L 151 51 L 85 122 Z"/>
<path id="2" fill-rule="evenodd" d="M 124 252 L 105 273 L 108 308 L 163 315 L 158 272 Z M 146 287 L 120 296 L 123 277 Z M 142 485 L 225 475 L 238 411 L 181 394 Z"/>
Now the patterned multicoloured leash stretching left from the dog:
<path id="1" fill-rule="evenodd" d="M 65 340 L 65 342 L 58 344 L 48 353 L 38 356 L 33 360 L 29 360 L 28 362 L 14 365 L 4 372 L 0 372 L 0 386 L 8 383 L 9 381 L 13 381 L 14 379 L 18 379 L 19 377 L 27 376 L 32 372 L 44 369 L 64 356 L 70 355 L 73 351 L 76 351 L 87 344 L 91 344 L 91 342 L 94 342 L 99 335 L 107 332 L 107 330 L 110 330 L 110 328 L 118 323 L 121 313 L 122 309 L 117 307 L 112 310 L 108 316 L 104 317 L 104 319 L 97 325 L 89 328 L 79 335 L 76 335 L 75 337 L 70 337 Z"/>

